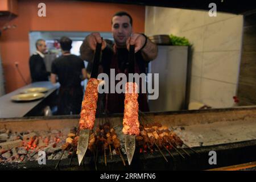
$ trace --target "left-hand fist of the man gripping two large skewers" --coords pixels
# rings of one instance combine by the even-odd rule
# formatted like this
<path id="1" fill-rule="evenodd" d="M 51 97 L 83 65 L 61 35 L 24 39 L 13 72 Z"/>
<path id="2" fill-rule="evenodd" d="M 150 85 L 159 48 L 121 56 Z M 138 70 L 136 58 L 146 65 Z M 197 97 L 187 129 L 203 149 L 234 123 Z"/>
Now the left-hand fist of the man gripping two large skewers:
<path id="1" fill-rule="evenodd" d="M 101 35 L 99 32 L 93 32 L 92 34 L 86 36 L 85 40 L 89 48 L 92 49 L 93 51 L 96 50 L 97 43 L 102 43 L 102 47 L 101 47 L 102 50 L 105 49 L 106 47 L 106 42 L 105 40 L 101 39 Z"/>

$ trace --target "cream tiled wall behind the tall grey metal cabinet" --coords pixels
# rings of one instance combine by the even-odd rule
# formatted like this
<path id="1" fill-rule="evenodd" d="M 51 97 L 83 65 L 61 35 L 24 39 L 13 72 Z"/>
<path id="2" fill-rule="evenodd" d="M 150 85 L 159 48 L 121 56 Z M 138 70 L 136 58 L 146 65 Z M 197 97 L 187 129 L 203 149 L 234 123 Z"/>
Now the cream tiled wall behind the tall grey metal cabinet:
<path id="1" fill-rule="evenodd" d="M 243 16 L 208 11 L 146 7 L 148 36 L 174 34 L 193 44 L 191 101 L 230 107 L 237 92 Z"/>

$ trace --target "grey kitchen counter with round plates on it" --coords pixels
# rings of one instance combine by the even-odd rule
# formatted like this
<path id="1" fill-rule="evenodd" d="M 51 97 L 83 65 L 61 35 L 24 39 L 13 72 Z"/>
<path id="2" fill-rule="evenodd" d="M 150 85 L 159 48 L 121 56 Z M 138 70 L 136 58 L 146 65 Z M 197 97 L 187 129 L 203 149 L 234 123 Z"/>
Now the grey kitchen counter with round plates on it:
<path id="1" fill-rule="evenodd" d="M 32 88 L 32 87 L 46 87 L 48 92 L 46 96 L 40 100 L 30 101 L 30 102 L 13 102 L 11 97 L 16 94 L 20 94 L 23 89 Z M 44 99 L 46 99 L 51 93 L 59 88 L 59 84 L 52 84 L 50 81 L 40 81 L 33 82 L 29 85 L 23 86 L 11 93 L 8 93 L 0 97 L 0 118 L 15 118 L 15 117 L 24 117 L 29 111 L 34 107 L 38 106 Z"/>

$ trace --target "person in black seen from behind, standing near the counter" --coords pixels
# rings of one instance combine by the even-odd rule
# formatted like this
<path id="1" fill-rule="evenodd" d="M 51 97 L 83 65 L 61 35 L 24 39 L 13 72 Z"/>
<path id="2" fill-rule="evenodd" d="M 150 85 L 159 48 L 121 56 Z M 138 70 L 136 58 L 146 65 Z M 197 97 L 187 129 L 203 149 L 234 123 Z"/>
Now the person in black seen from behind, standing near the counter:
<path id="1" fill-rule="evenodd" d="M 72 40 L 67 37 L 60 39 L 62 56 L 52 62 L 51 82 L 60 83 L 59 98 L 57 101 L 57 114 L 80 114 L 83 89 L 81 81 L 86 78 L 84 61 L 72 55 Z"/>

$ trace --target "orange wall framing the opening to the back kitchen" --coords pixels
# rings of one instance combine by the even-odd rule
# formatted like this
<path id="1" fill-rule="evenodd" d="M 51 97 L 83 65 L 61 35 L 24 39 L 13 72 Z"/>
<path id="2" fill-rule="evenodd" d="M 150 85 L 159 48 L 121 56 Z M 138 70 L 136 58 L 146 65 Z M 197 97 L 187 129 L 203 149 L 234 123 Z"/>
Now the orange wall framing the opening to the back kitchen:
<path id="1" fill-rule="evenodd" d="M 127 11 L 133 16 L 134 32 L 144 32 L 145 7 L 114 3 L 44 0 L 46 17 L 38 16 L 42 1 L 18 1 L 18 16 L 9 24 L 15 29 L 2 32 L 0 52 L 6 80 L 6 92 L 12 92 L 24 82 L 15 69 L 15 61 L 27 82 L 30 82 L 28 59 L 30 57 L 28 33 L 30 31 L 111 31 L 112 15 Z M 2 24 L 5 19 L 0 19 Z"/>

